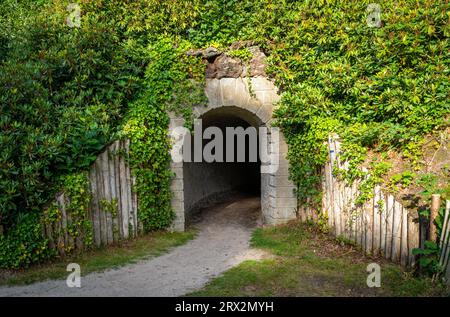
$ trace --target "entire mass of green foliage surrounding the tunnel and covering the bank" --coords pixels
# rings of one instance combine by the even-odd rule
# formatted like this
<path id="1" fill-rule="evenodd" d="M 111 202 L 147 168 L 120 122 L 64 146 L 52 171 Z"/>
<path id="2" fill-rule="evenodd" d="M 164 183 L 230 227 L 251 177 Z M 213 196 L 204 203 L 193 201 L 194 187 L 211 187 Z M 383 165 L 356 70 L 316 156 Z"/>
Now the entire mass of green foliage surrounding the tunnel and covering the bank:
<path id="1" fill-rule="evenodd" d="M 363 202 L 389 168 L 375 162 L 363 173 L 368 149 L 400 151 L 417 169 L 420 141 L 447 124 L 445 1 L 383 1 L 379 28 L 367 24 L 368 0 L 83 0 L 79 28 L 65 23 L 69 2 L 4 0 L 0 8 L 7 233 L 22 215 L 42 212 L 62 176 L 87 169 L 122 136 L 131 139 L 145 229 L 170 223 L 166 111 L 188 118 L 204 102 L 202 65 L 184 55 L 189 48 L 251 40 L 266 52 L 301 201 L 320 198 L 330 132 L 351 166 L 342 177 L 364 179 Z"/>

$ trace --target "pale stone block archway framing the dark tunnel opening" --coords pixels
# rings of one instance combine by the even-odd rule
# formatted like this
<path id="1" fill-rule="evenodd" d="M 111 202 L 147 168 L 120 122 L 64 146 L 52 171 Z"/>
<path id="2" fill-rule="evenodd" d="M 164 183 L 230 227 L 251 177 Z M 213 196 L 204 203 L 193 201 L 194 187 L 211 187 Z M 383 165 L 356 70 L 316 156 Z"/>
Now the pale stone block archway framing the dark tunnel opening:
<path id="1" fill-rule="evenodd" d="M 207 79 L 205 93 L 208 106 L 195 108 L 196 118 L 201 118 L 211 111 L 219 114 L 223 112 L 240 117 L 254 127 L 270 127 L 274 104 L 279 100 L 277 88 L 263 76 L 252 77 L 250 80 L 245 77 Z M 184 120 L 172 114 L 169 133 L 183 125 Z M 268 144 L 269 147 L 271 145 L 273 151 L 273 144 Z M 281 133 L 279 147 L 275 151 L 278 152 L 278 164 L 274 172 L 260 174 L 262 219 L 268 225 L 285 223 L 297 217 L 295 187 L 288 178 L 287 144 Z M 176 213 L 172 229 L 183 231 L 187 211 L 183 163 L 172 162 L 171 169 L 176 175 L 171 185 L 172 208 Z"/>

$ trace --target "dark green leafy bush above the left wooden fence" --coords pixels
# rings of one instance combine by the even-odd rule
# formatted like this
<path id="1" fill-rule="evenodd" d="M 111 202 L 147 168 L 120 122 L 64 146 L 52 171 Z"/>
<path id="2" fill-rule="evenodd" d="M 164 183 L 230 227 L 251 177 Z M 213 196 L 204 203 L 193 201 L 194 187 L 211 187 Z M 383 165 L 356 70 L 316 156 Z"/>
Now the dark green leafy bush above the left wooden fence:
<path id="1" fill-rule="evenodd" d="M 120 48 L 119 32 L 94 14 L 71 29 L 61 23 L 64 9 L 17 2 L 1 9 L 0 222 L 7 227 L 21 212 L 42 211 L 58 176 L 93 162 L 141 72 Z"/>

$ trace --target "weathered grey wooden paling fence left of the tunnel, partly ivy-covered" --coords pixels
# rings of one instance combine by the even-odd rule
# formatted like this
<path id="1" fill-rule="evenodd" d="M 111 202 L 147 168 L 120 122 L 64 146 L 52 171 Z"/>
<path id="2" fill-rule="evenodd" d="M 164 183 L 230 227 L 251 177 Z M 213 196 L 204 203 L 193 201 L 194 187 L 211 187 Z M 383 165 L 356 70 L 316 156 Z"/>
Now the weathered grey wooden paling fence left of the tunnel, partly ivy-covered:
<path id="1" fill-rule="evenodd" d="M 101 153 L 89 171 L 91 203 L 89 218 L 92 222 L 93 242 L 96 246 L 108 245 L 138 235 L 137 195 L 132 188 L 135 182 L 127 163 L 129 141 L 118 140 Z M 83 249 L 83 237 L 73 238 L 72 223 L 66 206 L 70 201 L 65 193 L 56 197 L 61 219 L 45 226 L 50 247 L 64 254 L 67 250 Z"/>

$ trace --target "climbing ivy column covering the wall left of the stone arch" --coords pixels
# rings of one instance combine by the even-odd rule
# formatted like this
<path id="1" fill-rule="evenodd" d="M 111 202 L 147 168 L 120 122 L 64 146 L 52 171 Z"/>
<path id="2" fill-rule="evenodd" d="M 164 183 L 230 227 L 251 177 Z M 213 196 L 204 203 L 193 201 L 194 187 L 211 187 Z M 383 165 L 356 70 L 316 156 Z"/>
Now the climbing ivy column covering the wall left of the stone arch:
<path id="1" fill-rule="evenodd" d="M 201 60 L 185 54 L 187 44 L 175 47 L 164 39 L 148 48 L 146 89 L 130 106 L 123 127 L 123 136 L 131 140 L 130 164 L 145 231 L 165 228 L 175 216 L 170 205 L 168 112 L 182 115 L 191 124 L 193 107 L 206 102 L 204 67 Z"/>

